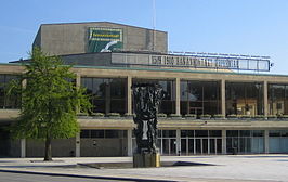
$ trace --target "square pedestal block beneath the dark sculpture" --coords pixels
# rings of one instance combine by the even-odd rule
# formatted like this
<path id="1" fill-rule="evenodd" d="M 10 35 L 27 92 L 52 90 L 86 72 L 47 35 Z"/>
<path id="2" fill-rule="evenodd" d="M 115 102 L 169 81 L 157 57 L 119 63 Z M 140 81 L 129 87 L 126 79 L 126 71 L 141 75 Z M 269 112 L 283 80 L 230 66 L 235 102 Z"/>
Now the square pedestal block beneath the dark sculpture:
<path id="1" fill-rule="evenodd" d="M 159 153 L 133 154 L 134 168 L 160 167 Z"/>

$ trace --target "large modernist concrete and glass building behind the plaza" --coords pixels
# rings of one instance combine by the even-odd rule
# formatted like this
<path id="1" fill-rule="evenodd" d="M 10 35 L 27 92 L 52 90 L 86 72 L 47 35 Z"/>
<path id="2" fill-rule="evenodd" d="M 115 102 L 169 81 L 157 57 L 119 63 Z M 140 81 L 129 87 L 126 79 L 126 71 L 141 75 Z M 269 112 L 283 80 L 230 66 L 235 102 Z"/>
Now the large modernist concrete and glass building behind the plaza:
<path id="1" fill-rule="evenodd" d="M 167 117 L 158 118 L 162 155 L 288 153 L 288 76 L 231 69 L 241 68 L 237 60 L 245 58 L 246 68 L 261 69 L 266 57 L 171 54 L 167 37 L 106 22 L 40 26 L 34 46 L 73 64 L 76 84 L 93 95 L 93 112 L 106 115 L 79 116 L 81 132 L 53 141 L 53 156 L 131 156 L 131 86 L 139 82 L 157 82 L 166 93 L 159 113 Z M 0 82 L 23 72 L 17 62 L 0 64 Z M 21 99 L 8 99 L 2 86 L 0 155 L 43 156 L 42 141 L 11 140 L 4 130 L 17 116 Z"/>

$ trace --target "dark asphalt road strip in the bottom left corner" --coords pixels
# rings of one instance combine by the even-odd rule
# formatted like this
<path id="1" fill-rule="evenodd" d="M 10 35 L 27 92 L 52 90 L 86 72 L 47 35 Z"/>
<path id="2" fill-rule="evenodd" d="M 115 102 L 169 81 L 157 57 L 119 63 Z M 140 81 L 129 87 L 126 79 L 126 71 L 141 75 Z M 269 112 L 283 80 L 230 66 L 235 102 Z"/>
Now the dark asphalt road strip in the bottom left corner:
<path id="1" fill-rule="evenodd" d="M 102 180 L 102 179 L 0 172 L 0 182 L 107 182 L 107 181 L 117 182 L 117 180 L 110 180 L 110 179 Z"/>

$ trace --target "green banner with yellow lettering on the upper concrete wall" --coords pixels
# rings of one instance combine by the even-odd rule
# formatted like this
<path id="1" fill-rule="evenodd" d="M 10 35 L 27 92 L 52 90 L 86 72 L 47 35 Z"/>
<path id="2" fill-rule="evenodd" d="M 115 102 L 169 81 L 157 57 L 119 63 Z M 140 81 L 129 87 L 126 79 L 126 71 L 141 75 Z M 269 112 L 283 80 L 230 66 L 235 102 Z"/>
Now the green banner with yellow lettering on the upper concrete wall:
<path id="1" fill-rule="evenodd" d="M 122 49 L 123 38 L 120 28 L 89 28 L 88 52 L 113 52 Z"/>

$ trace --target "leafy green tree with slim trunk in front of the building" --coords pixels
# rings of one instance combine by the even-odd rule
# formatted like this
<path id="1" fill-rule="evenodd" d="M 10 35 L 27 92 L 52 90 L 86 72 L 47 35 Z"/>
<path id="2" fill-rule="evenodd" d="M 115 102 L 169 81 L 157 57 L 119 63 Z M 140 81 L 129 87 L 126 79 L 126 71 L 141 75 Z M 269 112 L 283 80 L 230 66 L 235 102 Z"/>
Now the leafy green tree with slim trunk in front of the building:
<path id="1" fill-rule="evenodd" d="M 78 112 L 89 112 L 91 104 L 84 89 L 76 87 L 71 66 L 63 65 L 58 56 L 48 56 L 39 49 L 24 64 L 18 82 L 9 86 L 10 94 L 22 95 L 21 115 L 11 133 L 17 139 L 45 141 L 44 160 L 52 160 L 51 140 L 68 139 L 79 132 Z"/>

